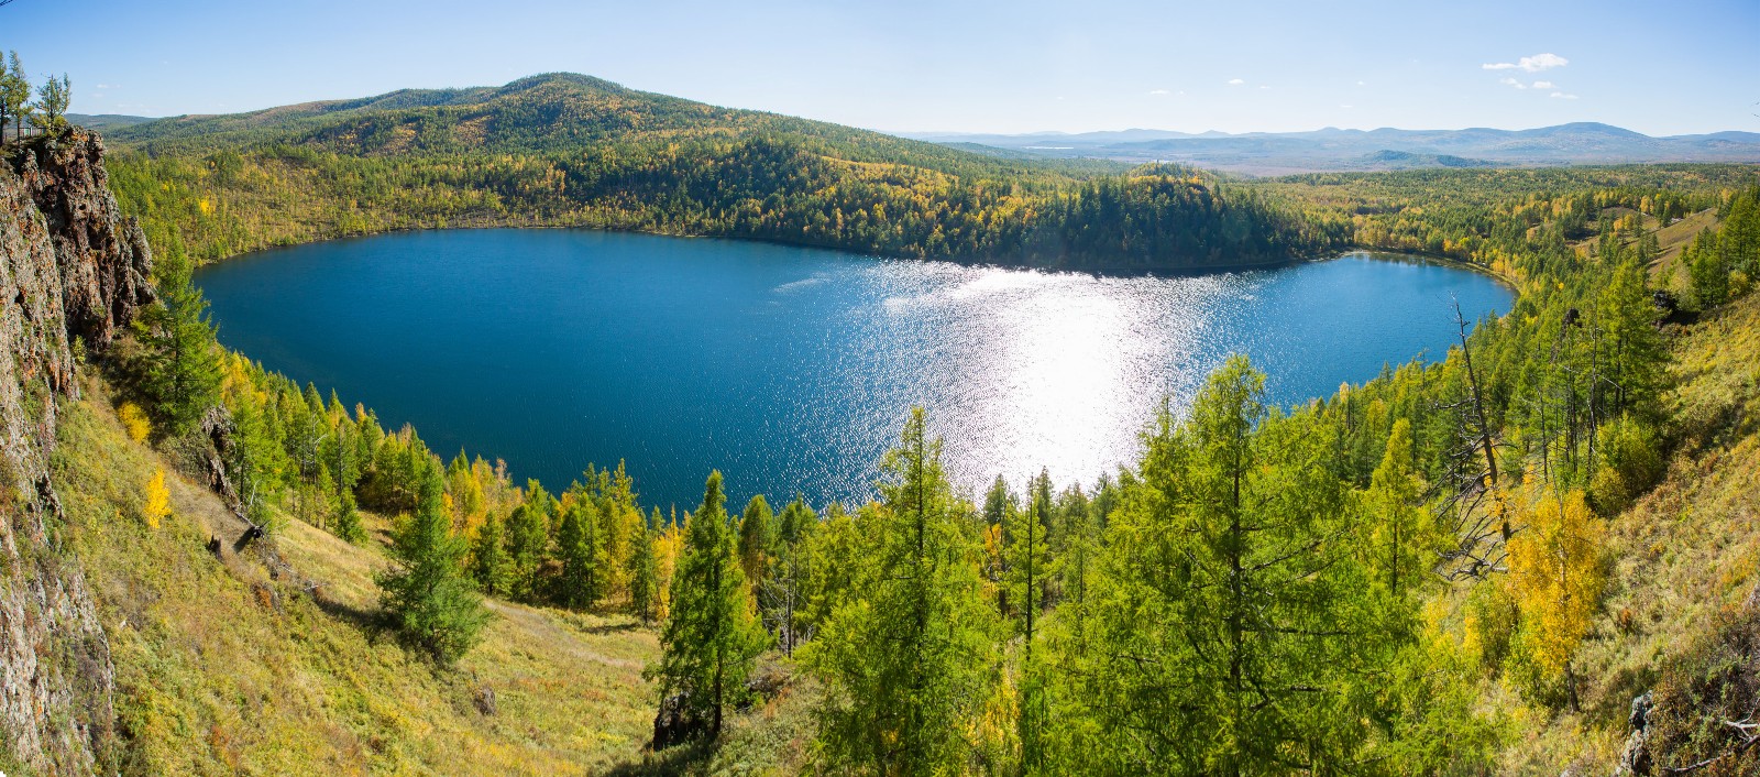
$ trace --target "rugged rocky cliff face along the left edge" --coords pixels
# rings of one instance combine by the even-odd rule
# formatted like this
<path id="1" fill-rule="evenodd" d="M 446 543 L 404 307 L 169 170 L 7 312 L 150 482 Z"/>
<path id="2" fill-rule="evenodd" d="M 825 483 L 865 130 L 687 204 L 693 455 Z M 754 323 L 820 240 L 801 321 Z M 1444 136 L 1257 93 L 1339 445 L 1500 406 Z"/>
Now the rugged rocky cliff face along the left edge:
<path id="1" fill-rule="evenodd" d="M 109 643 L 48 470 L 76 354 L 151 301 L 146 240 L 102 159 L 83 130 L 0 148 L 0 761 L 39 773 L 111 770 L 114 752 Z"/>

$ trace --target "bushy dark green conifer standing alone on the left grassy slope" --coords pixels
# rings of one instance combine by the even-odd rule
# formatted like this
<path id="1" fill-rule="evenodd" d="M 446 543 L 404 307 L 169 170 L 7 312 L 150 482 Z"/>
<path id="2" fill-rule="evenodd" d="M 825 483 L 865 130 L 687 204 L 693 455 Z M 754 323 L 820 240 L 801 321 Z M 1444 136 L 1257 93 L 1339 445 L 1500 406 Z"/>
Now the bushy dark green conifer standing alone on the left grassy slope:
<path id="1" fill-rule="evenodd" d="M 482 631 L 482 596 L 465 576 L 465 539 L 452 534 L 440 463 L 417 472 L 415 514 L 398 523 L 392 567 L 377 576 L 380 597 L 403 636 L 442 664 L 458 661 Z"/>

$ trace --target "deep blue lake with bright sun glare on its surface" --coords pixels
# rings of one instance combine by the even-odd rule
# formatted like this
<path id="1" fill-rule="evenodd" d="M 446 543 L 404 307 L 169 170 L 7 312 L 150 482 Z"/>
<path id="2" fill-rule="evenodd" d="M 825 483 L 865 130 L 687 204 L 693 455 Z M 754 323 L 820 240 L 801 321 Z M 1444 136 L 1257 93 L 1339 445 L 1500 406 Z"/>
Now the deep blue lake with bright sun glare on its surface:
<path id="1" fill-rule="evenodd" d="M 1230 352 L 1278 403 L 1440 358 L 1512 294 L 1459 268 L 1348 254 L 1280 270 L 1096 277 L 771 243 L 461 229 L 278 248 L 197 273 L 220 340 L 451 458 L 561 490 L 625 460 L 695 509 L 709 469 L 813 504 L 873 493 L 912 405 L 975 493 L 1128 463 L 1162 396 Z"/>

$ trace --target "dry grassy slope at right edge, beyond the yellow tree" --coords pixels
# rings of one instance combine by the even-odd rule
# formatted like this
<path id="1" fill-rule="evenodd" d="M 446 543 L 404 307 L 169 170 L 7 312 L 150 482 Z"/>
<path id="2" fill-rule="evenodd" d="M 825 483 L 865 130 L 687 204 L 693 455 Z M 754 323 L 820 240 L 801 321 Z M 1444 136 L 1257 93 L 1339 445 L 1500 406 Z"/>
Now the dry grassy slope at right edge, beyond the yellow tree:
<path id="1" fill-rule="evenodd" d="M 1760 296 L 1695 324 L 1674 351 L 1668 411 L 1684 440 L 1663 483 L 1609 523 L 1612 585 L 1577 657 L 1582 712 L 1524 726 L 1507 772 L 1610 773 L 1632 699 L 1693 675 L 1690 652 L 1720 624 L 1760 620 Z"/>

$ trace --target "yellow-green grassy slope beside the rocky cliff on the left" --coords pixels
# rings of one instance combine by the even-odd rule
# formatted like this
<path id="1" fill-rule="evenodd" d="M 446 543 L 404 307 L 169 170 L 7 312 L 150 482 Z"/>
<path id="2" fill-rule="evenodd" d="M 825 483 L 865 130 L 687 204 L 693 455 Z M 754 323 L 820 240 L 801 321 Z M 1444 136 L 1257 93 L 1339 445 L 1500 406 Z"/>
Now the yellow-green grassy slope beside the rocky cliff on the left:
<path id="1" fill-rule="evenodd" d="M 111 634 L 130 773 L 764 772 L 799 758 L 810 692 L 737 715 L 718 754 L 644 763 L 641 671 L 658 645 L 625 617 L 491 601 L 482 645 L 435 670 L 373 615 L 377 543 L 289 522 L 273 543 L 215 559 L 208 539 L 241 525 L 176 474 L 174 513 L 150 529 L 144 488 L 165 462 L 125 437 L 100 384 L 86 393 L 67 407 L 55 476 Z M 308 594 L 308 581 L 322 585 Z M 479 689 L 495 692 L 495 715 L 479 712 Z"/>

